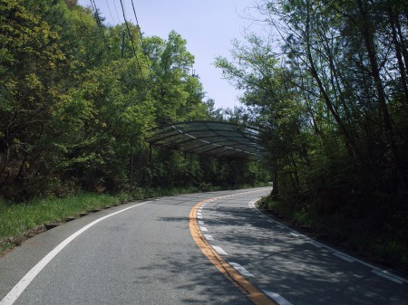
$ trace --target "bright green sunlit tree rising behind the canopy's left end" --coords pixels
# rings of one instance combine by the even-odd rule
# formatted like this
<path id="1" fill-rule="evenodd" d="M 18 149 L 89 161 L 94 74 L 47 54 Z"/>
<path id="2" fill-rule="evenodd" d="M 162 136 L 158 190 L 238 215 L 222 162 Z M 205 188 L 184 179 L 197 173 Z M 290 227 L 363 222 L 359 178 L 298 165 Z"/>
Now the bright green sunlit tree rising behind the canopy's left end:
<path id="1" fill-rule="evenodd" d="M 167 41 L 151 37 L 145 40 L 145 45 L 151 59 L 152 97 L 158 102 L 158 124 L 168 124 L 178 117 L 206 117 L 208 111 L 201 105 L 202 85 L 190 74 L 194 56 L 187 51 L 186 41 L 172 31 Z"/>

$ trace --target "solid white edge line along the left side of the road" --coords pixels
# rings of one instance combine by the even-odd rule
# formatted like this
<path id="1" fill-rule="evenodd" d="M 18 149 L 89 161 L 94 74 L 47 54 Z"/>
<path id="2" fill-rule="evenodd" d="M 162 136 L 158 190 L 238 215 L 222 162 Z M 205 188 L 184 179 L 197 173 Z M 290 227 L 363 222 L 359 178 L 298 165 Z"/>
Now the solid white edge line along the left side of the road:
<path id="1" fill-rule="evenodd" d="M 102 220 L 105 220 L 106 218 L 112 217 L 115 214 L 120 214 L 120 213 L 122 213 L 124 211 L 127 211 L 127 210 L 133 208 L 133 207 L 146 205 L 146 204 L 148 204 L 150 202 L 151 201 L 146 201 L 146 202 L 143 202 L 143 203 L 138 204 L 138 205 L 131 205 L 131 206 L 126 207 L 126 208 L 124 208 L 124 209 L 122 209 L 122 210 L 120 210 L 118 212 L 108 214 L 106 216 L 98 218 L 97 220 L 94 220 L 91 224 L 85 225 L 81 230 L 78 230 L 77 232 L 75 232 L 71 236 L 67 237 L 62 243 L 58 244 L 55 248 L 53 248 L 53 251 L 51 251 L 50 253 L 45 255 L 44 258 L 40 262 L 37 262 L 37 264 L 29 272 L 27 272 L 24 275 L 23 279 L 21 279 L 19 282 L 17 282 L 15 287 L 10 292 L 7 293 L 7 295 L 5 296 L 5 298 L 3 300 L 0 301 L 0 305 L 11 305 L 11 304 L 13 304 L 15 302 L 15 300 L 17 300 L 18 297 L 23 293 L 25 288 L 27 288 L 27 286 L 30 284 L 30 282 L 34 280 L 34 278 L 38 275 L 38 273 L 40 273 L 44 269 L 44 267 L 48 264 L 48 262 L 51 262 L 53 260 L 53 258 L 55 257 L 56 254 L 60 253 L 63 250 L 63 248 L 65 248 L 76 237 L 83 234 L 83 232 L 85 232 L 86 230 L 91 228 L 93 225 L 98 224 L 99 222 L 102 222 Z"/>

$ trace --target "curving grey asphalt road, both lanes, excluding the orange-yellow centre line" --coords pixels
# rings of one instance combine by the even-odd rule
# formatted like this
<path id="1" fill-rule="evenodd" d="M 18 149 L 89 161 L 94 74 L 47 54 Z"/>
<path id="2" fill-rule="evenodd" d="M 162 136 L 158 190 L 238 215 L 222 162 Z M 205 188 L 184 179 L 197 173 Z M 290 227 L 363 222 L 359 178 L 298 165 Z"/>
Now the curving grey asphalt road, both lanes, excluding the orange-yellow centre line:
<path id="1" fill-rule="evenodd" d="M 201 234 L 276 303 L 408 304 L 404 279 L 258 213 L 251 203 L 268 192 L 135 202 L 37 235 L 0 258 L 0 304 L 251 304 L 191 237 L 189 213 L 209 198 L 195 219 Z"/>

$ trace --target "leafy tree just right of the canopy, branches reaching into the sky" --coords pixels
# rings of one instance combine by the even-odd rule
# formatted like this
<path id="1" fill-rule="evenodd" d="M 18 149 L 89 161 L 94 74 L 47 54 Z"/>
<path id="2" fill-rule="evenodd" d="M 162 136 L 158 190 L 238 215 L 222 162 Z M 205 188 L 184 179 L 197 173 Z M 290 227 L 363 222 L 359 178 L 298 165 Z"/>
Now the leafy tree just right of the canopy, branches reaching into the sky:
<path id="1" fill-rule="evenodd" d="M 278 176 L 288 178 L 289 185 L 299 190 L 297 162 L 307 159 L 300 136 L 306 117 L 302 115 L 304 105 L 296 97 L 291 75 L 279 66 L 272 46 L 259 36 L 250 35 L 248 45 L 236 41 L 234 46 L 233 58 L 237 64 L 218 58 L 216 66 L 238 88 L 246 89 L 240 100 L 248 106 L 248 113 L 241 110 L 235 116 L 238 115 L 238 120 L 249 120 L 262 130 L 261 138 L 267 143 L 273 171 L 273 192 L 278 193 Z"/>

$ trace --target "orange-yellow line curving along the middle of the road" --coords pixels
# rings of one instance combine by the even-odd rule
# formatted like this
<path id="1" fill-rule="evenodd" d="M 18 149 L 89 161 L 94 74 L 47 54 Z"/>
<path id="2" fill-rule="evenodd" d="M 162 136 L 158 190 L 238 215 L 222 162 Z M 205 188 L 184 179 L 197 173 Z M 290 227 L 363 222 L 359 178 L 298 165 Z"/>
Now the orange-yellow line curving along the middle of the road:
<path id="1" fill-rule="evenodd" d="M 201 201 L 197 205 L 194 205 L 191 211 L 189 211 L 189 232 L 192 238 L 197 243 L 202 253 L 207 256 L 209 262 L 212 262 L 212 264 L 216 266 L 217 269 L 222 272 L 227 279 L 231 281 L 240 291 L 242 291 L 254 304 L 277 305 L 277 303 L 270 300 L 264 292 L 259 291 L 254 285 L 247 281 L 228 262 L 224 261 L 222 257 L 219 256 L 219 253 L 212 249 L 199 231 L 199 224 L 197 223 L 197 210 L 199 209 L 199 206 L 216 198 L 218 197 Z"/>

